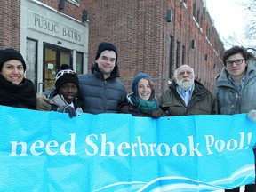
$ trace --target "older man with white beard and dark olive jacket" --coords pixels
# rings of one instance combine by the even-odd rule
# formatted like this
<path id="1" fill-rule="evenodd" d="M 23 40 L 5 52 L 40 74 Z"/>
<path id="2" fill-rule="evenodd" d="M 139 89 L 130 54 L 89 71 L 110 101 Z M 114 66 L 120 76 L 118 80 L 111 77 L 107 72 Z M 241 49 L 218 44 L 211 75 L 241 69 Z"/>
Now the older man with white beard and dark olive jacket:
<path id="1" fill-rule="evenodd" d="M 168 116 L 217 114 L 212 93 L 196 81 L 194 69 L 188 65 L 175 70 L 174 81 L 161 94 L 160 105 Z"/>

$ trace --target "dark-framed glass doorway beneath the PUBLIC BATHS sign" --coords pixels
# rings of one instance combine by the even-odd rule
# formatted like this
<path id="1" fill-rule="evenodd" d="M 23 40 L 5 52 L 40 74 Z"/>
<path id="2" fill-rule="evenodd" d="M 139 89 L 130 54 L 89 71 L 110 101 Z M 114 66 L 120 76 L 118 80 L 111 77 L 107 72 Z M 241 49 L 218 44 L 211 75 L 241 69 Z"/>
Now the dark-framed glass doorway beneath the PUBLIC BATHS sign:
<path id="1" fill-rule="evenodd" d="M 73 68 L 71 50 L 52 44 L 44 44 L 43 92 L 55 86 L 55 75 L 62 64 L 68 64 Z"/>

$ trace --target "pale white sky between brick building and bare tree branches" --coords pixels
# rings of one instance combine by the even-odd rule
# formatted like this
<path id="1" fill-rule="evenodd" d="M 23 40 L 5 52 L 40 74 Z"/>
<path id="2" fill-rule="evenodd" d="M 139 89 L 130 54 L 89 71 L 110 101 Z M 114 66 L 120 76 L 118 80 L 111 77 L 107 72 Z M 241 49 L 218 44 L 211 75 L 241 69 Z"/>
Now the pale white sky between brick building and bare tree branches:
<path id="1" fill-rule="evenodd" d="M 227 39 L 228 36 L 239 37 L 244 46 L 249 44 L 244 40 L 244 20 L 248 19 L 244 6 L 241 2 L 248 0 L 206 0 L 206 7 L 211 15 L 214 26 L 219 32 L 220 39 Z"/>

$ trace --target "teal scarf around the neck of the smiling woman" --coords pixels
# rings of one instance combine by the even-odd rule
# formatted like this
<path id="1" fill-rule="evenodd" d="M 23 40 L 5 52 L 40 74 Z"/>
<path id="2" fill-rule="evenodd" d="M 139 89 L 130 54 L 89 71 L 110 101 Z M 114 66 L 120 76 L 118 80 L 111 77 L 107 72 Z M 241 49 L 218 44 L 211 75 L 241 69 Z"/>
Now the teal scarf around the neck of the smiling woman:
<path id="1" fill-rule="evenodd" d="M 158 105 L 156 103 L 156 99 L 147 101 L 141 100 L 139 97 L 135 96 L 134 94 L 131 95 L 132 104 L 137 107 L 141 112 L 150 115 L 153 111 L 158 109 Z"/>

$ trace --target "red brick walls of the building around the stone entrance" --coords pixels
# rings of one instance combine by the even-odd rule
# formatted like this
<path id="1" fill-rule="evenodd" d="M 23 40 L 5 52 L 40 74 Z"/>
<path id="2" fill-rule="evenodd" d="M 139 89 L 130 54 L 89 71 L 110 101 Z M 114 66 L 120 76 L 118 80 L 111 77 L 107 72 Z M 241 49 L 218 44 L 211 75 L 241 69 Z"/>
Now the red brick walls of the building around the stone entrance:
<path id="1" fill-rule="evenodd" d="M 133 76 L 140 72 L 159 79 L 156 88 L 162 92 L 168 86 L 165 79 L 172 78 L 181 64 L 193 67 L 196 79 L 213 90 L 224 49 L 202 0 L 186 4 L 182 0 L 83 0 L 78 6 L 65 1 L 61 10 L 59 0 L 40 2 L 81 21 L 83 10 L 88 11 L 89 72 L 100 42 L 116 44 L 120 75 L 128 92 Z M 172 22 L 166 21 L 167 10 L 172 10 Z M 0 47 L 19 49 L 20 1 L 2 1 L 0 14 L 4 17 Z"/>

